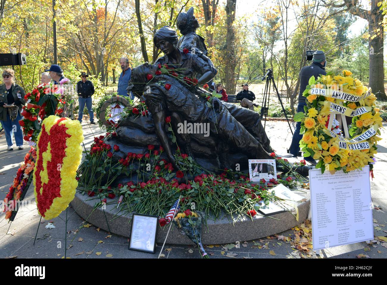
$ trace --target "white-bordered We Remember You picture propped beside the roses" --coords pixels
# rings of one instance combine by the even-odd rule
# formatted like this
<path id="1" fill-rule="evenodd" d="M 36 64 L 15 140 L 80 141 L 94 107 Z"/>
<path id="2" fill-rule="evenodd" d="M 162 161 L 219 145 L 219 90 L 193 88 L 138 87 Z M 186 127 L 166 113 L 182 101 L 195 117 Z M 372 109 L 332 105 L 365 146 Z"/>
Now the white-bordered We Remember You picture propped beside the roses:
<path id="1" fill-rule="evenodd" d="M 254 182 L 262 178 L 266 181 L 271 178 L 277 179 L 276 160 L 274 159 L 249 159 L 248 170 L 250 180 Z"/>

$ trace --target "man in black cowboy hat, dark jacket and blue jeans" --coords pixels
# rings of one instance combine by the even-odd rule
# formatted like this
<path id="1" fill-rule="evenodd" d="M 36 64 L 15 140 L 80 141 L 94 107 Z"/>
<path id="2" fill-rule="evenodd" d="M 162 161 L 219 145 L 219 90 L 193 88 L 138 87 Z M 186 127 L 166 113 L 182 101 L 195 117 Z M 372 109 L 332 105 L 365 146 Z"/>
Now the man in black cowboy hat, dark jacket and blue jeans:
<path id="1" fill-rule="evenodd" d="M 77 93 L 79 102 L 78 120 L 82 123 L 83 109 L 85 105 L 90 116 L 90 123 L 95 124 L 94 114 L 92 110 L 92 99 L 91 96 L 94 94 L 94 84 L 90 80 L 87 80 L 88 75 L 86 72 L 81 72 L 79 76 L 82 80 L 77 83 Z"/>

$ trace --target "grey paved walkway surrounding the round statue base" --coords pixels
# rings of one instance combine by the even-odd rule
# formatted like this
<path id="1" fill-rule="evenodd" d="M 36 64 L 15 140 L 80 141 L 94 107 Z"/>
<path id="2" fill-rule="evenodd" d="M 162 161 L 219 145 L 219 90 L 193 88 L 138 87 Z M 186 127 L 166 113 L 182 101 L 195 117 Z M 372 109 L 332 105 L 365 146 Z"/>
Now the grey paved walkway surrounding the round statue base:
<path id="1" fill-rule="evenodd" d="M 94 135 L 101 134 L 98 125 L 82 123 L 85 145 L 90 146 Z M 295 124 L 293 123 L 293 127 Z M 384 125 L 385 126 L 385 125 Z M 266 130 L 272 141 L 272 147 L 277 153 L 286 152 L 286 147 L 291 141 L 291 132 L 286 122 L 267 122 Z M 387 134 L 382 130 L 384 140 L 380 142 L 378 163 L 375 166 L 375 178 L 371 182 L 373 209 L 374 235 L 387 235 Z M 285 142 L 285 143 L 284 143 Z M 10 183 L 28 149 L 24 144 L 23 151 L 7 151 L 5 136 L 0 137 L 0 198 L 3 200 L 9 189 Z M 31 204 L 19 210 L 16 219 L 9 228 L 9 223 L 4 220 L 4 213 L 0 212 L 0 258 L 62 258 L 65 248 L 65 223 L 66 211 L 53 220 L 55 229 L 46 229 L 48 221 L 42 219 L 38 239 L 35 245 L 34 236 L 39 225 L 40 216 L 36 210 L 33 187 L 27 192 L 26 201 Z M 161 250 L 158 244 L 156 254 L 129 251 L 128 239 L 117 235 L 109 235 L 108 232 L 89 225 L 74 212 L 72 207 L 68 208 L 67 224 L 67 256 L 71 258 L 157 258 Z M 84 223 L 84 224 L 83 224 Z M 300 221 L 302 223 L 302 221 Z M 82 226 L 80 228 L 80 226 Z M 8 230 L 9 229 L 9 230 Z M 295 230 L 287 230 L 279 235 L 295 238 Z M 387 248 L 382 243 L 366 244 L 361 242 L 348 246 L 339 246 L 325 249 L 320 256 L 314 252 L 299 251 L 292 242 L 278 240 L 277 236 L 264 237 L 254 241 L 241 242 L 238 248 L 233 244 L 212 245 L 206 247 L 211 258 L 356 258 L 364 254 L 369 258 L 387 258 Z M 164 247 L 163 258 L 200 258 L 198 250 L 194 246 Z"/>

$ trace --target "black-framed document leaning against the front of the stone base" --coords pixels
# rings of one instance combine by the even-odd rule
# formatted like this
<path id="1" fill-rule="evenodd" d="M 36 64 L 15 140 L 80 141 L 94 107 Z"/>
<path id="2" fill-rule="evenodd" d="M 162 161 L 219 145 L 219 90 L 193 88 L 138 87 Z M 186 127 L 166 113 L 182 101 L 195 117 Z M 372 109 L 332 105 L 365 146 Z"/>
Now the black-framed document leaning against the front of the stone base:
<path id="1" fill-rule="evenodd" d="M 128 249 L 154 253 L 158 220 L 158 216 L 133 214 Z"/>

